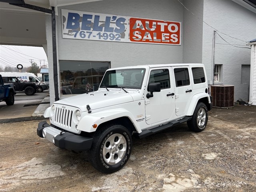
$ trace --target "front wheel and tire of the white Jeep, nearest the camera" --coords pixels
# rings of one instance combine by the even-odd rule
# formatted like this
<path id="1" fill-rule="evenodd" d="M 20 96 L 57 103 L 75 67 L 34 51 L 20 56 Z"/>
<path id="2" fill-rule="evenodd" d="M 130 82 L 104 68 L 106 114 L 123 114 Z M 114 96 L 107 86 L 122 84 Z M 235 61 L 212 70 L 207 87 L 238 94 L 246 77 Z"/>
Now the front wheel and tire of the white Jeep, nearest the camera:
<path id="1" fill-rule="evenodd" d="M 132 150 L 131 133 L 122 125 L 102 127 L 94 135 L 89 151 L 92 166 L 103 173 L 120 170 L 128 161 Z"/>

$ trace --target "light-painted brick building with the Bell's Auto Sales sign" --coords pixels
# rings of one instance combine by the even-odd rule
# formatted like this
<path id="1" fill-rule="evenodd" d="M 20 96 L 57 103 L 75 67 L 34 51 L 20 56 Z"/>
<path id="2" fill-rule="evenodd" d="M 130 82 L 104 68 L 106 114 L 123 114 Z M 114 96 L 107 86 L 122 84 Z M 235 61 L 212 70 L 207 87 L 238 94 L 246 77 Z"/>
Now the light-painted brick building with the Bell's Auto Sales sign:
<path id="1" fill-rule="evenodd" d="M 232 84 L 235 88 L 234 99 L 241 98 L 247 101 L 250 84 L 250 49 L 246 46 L 246 42 L 256 36 L 256 8 L 240 5 L 240 3 L 241 1 L 235 0 L 103 0 L 59 6 L 56 19 L 58 74 L 60 82 L 67 80 L 70 83 L 69 86 L 63 85 L 63 88 L 60 85 L 60 98 L 63 98 L 64 94 L 82 93 L 82 90 L 69 88 L 84 88 L 83 77 L 84 83 L 90 84 L 90 90 L 96 89 L 104 70 L 110 67 L 204 63 L 209 85 Z M 74 15 L 80 15 L 78 27 L 75 26 L 77 21 Z M 83 15 L 88 18 L 82 20 Z M 99 16 L 98 23 L 95 20 L 97 16 Z M 110 38 L 116 38 L 117 33 L 114 37 L 113 32 L 108 32 L 105 28 L 108 18 L 114 17 L 126 19 L 123 22 L 125 30 L 130 29 L 130 35 L 135 34 L 134 39 L 139 43 L 110 40 Z M 177 37 L 179 43 L 164 44 L 163 39 L 159 40 L 158 34 L 155 39 L 152 37 L 154 34 L 144 36 L 143 42 L 143 37 L 140 38 L 136 32 L 132 31 L 134 26 L 129 28 L 131 18 L 142 18 L 142 24 L 148 22 L 149 26 L 148 28 L 144 26 L 145 30 L 152 29 L 154 22 L 156 25 L 158 22 L 163 22 L 162 26 L 168 26 L 166 21 L 180 24 L 178 26 L 180 33 Z M 68 19 L 71 24 L 67 26 Z M 90 26 L 91 22 L 98 24 L 98 28 Z M 140 23 L 137 24 L 137 28 L 143 28 Z M 86 28 L 86 25 L 90 26 L 90 29 Z M 161 24 L 159 25 L 161 27 Z M 117 24 L 113 26 L 121 29 Z M 156 26 L 156 30 L 160 27 Z M 112 29 L 111 25 L 108 26 L 109 28 Z M 94 30 L 98 30 L 97 33 L 94 33 Z M 164 28 L 163 30 L 162 33 L 168 32 Z M 172 28 L 172 32 L 175 30 Z M 53 86 L 50 31 L 51 18 L 46 16 L 49 78 L 50 86 Z M 83 38 L 83 33 L 85 35 L 92 33 L 94 39 Z M 128 37 L 127 33 L 125 35 Z M 107 36 L 108 39 L 105 40 Z M 146 42 L 146 40 L 149 41 Z M 175 38 L 172 40 L 175 41 Z M 53 89 L 50 89 L 50 95 L 53 102 Z"/>

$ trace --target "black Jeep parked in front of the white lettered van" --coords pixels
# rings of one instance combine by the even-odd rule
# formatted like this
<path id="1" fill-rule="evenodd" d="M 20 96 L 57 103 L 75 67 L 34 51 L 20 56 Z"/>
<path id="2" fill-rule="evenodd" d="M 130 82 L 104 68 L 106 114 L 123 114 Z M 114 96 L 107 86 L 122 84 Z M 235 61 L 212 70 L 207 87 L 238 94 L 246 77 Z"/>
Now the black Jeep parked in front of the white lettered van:
<path id="1" fill-rule="evenodd" d="M 2 77 L 4 83 L 13 83 L 16 92 L 25 92 L 26 95 L 33 95 L 36 93 L 36 83 L 26 82 L 20 80 L 18 77 Z"/>

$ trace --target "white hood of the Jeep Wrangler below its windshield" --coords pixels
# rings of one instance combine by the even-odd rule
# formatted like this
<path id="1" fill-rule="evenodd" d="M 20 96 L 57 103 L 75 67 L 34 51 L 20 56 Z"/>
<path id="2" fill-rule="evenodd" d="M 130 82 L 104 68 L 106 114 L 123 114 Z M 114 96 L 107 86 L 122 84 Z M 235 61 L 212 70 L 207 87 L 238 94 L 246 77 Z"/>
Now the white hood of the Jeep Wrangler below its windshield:
<path id="1" fill-rule="evenodd" d="M 65 98 L 54 103 L 78 107 L 82 112 L 87 111 L 86 106 L 89 105 L 91 110 L 114 106 L 122 103 L 134 101 L 134 97 L 140 96 L 138 93 L 125 93 L 123 91 L 96 91 L 88 94 L 80 94 Z M 140 96 L 141 98 L 141 96 Z"/>

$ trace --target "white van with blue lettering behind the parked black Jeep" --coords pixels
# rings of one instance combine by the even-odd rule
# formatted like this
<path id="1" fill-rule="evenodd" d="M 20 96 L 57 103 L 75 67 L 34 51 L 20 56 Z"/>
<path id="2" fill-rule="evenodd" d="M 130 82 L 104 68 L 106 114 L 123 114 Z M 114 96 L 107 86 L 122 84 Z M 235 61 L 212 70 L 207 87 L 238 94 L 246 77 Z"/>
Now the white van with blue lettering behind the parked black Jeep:
<path id="1" fill-rule="evenodd" d="M 6 76 L 6 74 L 10 74 L 11 76 L 15 76 L 20 78 L 22 81 L 30 81 L 30 82 L 35 82 L 36 85 L 38 86 L 37 92 L 42 92 L 44 90 L 47 90 L 49 86 L 45 83 L 42 82 L 35 74 L 33 73 L 28 73 L 28 72 L 1 72 L 2 76 Z"/>

